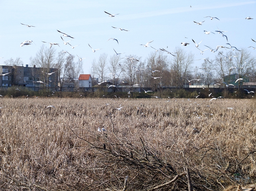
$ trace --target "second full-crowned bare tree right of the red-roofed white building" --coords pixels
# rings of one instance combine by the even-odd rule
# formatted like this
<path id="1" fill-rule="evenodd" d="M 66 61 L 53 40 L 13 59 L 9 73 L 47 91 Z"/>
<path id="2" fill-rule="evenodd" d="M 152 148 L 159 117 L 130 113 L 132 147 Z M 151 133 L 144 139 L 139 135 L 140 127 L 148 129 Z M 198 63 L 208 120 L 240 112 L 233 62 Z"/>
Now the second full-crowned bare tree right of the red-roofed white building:
<path id="1" fill-rule="evenodd" d="M 119 79 L 119 76 L 122 73 L 122 67 L 120 66 L 121 63 L 122 63 L 121 58 L 120 58 L 120 54 L 110 56 L 108 61 L 109 61 L 108 70 L 110 72 L 110 76 L 112 77 L 113 84 L 116 86 L 117 82 L 118 82 L 118 79 Z M 116 88 L 114 87 L 113 89 L 114 89 L 114 92 L 115 92 Z"/>

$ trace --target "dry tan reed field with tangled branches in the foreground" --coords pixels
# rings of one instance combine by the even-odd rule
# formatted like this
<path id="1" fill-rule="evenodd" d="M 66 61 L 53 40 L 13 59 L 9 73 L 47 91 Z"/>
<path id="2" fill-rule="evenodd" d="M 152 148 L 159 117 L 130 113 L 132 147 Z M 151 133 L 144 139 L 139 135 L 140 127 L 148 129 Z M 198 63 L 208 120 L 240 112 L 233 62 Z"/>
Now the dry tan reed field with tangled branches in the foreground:
<path id="1" fill-rule="evenodd" d="M 0 190 L 188 190 L 188 170 L 193 190 L 255 182 L 255 101 L 209 100 L 0 99 Z"/>

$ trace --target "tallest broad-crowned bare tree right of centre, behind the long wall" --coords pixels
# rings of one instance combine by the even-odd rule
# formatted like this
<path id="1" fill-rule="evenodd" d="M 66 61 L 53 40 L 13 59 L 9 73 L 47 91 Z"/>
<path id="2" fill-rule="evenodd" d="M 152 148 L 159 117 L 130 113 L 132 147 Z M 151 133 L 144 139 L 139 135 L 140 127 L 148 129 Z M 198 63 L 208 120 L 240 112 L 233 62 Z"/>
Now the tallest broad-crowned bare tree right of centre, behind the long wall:
<path id="1" fill-rule="evenodd" d="M 190 73 L 191 65 L 194 61 L 194 54 L 191 52 L 187 53 L 181 47 L 176 47 L 176 56 L 171 59 L 172 70 L 175 71 L 176 75 L 176 87 L 183 87 L 186 76 Z"/>

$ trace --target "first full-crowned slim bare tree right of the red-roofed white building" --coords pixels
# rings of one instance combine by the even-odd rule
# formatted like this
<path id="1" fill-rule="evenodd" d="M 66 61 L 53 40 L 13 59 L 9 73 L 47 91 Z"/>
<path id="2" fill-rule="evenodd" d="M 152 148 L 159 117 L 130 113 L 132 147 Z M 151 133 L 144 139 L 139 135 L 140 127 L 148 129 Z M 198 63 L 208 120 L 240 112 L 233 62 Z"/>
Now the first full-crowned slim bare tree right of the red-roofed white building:
<path id="1" fill-rule="evenodd" d="M 95 65 L 96 74 L 101 82 L 103 82 L 107 73 L 107 56 L 108 55 L 106 53 L 100 54 L 99 60 Z M 103 86 L 101 84 L 101 89 L 102 87 Z"/>

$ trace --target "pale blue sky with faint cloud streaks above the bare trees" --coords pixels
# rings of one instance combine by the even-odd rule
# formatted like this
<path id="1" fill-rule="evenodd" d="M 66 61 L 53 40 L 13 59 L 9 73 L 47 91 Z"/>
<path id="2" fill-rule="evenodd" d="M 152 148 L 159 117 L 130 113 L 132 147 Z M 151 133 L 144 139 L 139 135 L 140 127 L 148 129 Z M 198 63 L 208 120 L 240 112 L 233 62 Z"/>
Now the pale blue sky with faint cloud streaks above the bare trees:
<path id="1" fill-rule="evenodd" d="M 189 7 L 189 6 L 192 7 Z M 228 43 L 237 48 L 256 47 L 252 39 L 256 40 L 256 1 L 215 0 L 215 1 L 151 1 L 151 0 L 102 0 L 102 1 L 52 1 L 52 0 L 27 0 L 27 1 L 0 1 L 0 65 L 9 58 L 21 57 L 24 64 L 29 64 L 29 58 L 44 44 L 41 41 L 59 43 L 54 46 L 57 51 L 67 50 L 73 55 L 78 55 L 83 60 L 84 73 L 89 73 L 91 62 L 98 59 L 103 52 L 108 56 L 114 54 L 113 48 L 124 55 L 136 54 L 142 56 L 141 61 L 154 51 L 151 47 L 143 47 L 154 40 L 150 45 L 154 48 L 167 48 L 173 51 L 180 43 L 187 42 L 190 45 L 182 48 L 192 51 L 195 59 L 214 58 L 217 52 L 206 50 L 200 55 L 200 50 L 195 44 L 201 40 L 203 45 L 216 48 L 218 45 L 227 46 L 225 38 L 214 32 L 217 27 L 228 37 Z M 104 11 L 118 14 L 111 18 Z M 220 19 L 203 18 L 206 16 Z M 252 20 L 246 20 L 246 17 Z M 205 22 L 196 25 L 196 22 Z M 26 27 L 20 23 L 36 27 Z M 129 31 L 120 31 L 111 26 L 123 28 Z M 80 45 L 72 49 L 64 45 L 61 34 L 64 32 L 75 39 L 70 42 L 72 46 Z M 206 35 L 205 31 L 214 32 Z M 188 38 L 185 39 L 184 35 Z M 108 41 L 115 38 L 116 41 Z M 70 38 L 63 37 L 65 41 Z M 32 40 L 36 45 L 20 47 L 25 40 Z M 92 52 L 91 48 L 103 48 Z M 45 44 L 49 47 L 49 44 Z M 256 49 L 249 49 L 254 55 Z M 226 52 L 225 49 L 223 49 Z M 168 56 L 172 56 L 169 55 Z M 75 59 L 78 59 L 77 57 Z M 194 66 L 200 66 L 202 60 L 194 62 Z"/>

